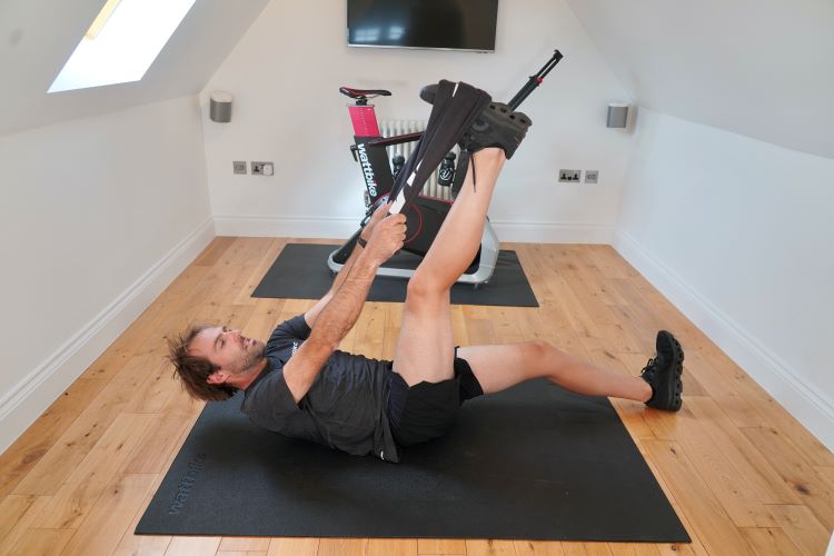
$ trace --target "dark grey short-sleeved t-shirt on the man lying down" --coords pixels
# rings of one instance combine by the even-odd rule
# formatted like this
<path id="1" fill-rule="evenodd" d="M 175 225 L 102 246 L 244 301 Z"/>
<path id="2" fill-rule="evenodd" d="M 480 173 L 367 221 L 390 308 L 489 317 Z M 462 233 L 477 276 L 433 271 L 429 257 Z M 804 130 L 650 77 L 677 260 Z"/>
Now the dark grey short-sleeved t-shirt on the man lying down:
<path id="1" fill-rule="evenodd" d="M 292 438 L 398 461 L 385 410 L 390 361 L 337 350 L 296 405 L 284 366 L 309 335 L 304 315 L 275 329 L 265 351 L 269 364 L 246 389 L 241 411 L 256 425 Z"/>

